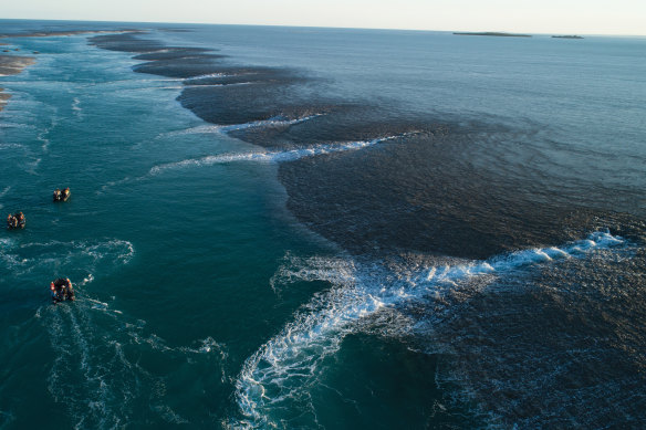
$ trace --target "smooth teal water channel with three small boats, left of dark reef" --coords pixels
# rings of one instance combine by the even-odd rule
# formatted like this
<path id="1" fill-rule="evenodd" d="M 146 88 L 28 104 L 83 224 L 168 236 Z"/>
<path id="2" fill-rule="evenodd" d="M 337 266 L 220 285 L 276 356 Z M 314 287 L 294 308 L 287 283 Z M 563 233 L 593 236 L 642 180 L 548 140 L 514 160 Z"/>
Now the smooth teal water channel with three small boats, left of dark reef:
<path id="1" fill-rule="evenodd" d="M 274 165 L 146 177 L 160 160 L 240 148 L 183 133 L 202 123 L 174 101 L 177 84 L 133 74 L 126 55 L 85 38 L 21 43 L 42 54 L 6 78 L 14 98 L 2 113 L 2 206 L 28 213 L 29 229 L 2 237 L 2 326 L 6 357 L 30 363 L 30 382 L 6 374 L 3 398 L 32 388 L 8 399 L 7 422 L 156 427 L 177 408 L 210 422 L 241 361 L 312 292 L 277 297 L 268 280 L 288 250 L 311 252 L 317 240 L 284 210 Z M 64 186 L 72 198 L 52 204 L 51 189 Z M 73 306 L 46 302 L 58 274 L 77 285 Z M 32 415 L 25 397 L 49 406 Z M 139 416 L 148 400 L 156 409 Z"/>

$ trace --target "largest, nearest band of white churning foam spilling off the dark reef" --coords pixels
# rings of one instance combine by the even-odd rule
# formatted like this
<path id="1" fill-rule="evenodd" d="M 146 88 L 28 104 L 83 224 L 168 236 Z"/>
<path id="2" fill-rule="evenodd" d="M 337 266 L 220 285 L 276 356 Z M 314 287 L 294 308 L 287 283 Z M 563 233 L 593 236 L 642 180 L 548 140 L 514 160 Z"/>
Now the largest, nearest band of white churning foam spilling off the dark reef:
<path id="1" fill-rule="evenodd" d="M 529 249 L 461 264 L 413 268 L 403 273 L 381 264 L 365 266 L 353 260 L 289 258 L 274 275 L 277 283 L 326 281 L 333 287 L 315 295 L 304 312 L 282 332 L 249 357 L 236 381 L 236 398 L 246 417 L 232 427 L 280 427 L 281 417 L 294 403 L 311 407 L 308 389 L 313 386 L 321 364 L 335 354 L 353 325 L 385 307 L 420 301 L 440 294 L 459 281 L 476 276 L 500 276 L 528 265 L 554 260 L 583 258 L 595 250 L 625 244 L 609 232 L 595 232 L 587 239 L 563 247 Z M 313 411 L 312 411 L 313 412 Z"/>

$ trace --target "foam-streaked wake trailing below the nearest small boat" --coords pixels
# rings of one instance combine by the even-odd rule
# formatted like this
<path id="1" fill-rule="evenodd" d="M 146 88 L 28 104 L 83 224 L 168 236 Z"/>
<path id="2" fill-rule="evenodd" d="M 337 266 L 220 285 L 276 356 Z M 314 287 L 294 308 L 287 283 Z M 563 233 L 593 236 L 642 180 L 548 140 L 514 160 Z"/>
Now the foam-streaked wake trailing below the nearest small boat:
<path id="1" fill-rule="evenodd" d="M 146 329 L 146 322 L 131 321 L 110 303 L 86 294 L 71 304 L 42 306 L 37 318 L 46 327 L 55 356 L 48 390 L 66 408 L 74 429 L 139 427 L 158 419 L 169 424 L 191 422 L 167 400 L 166 376 L 148 370 L 149 361 L 142 355 L 185 366 L 202 357 L 201 361 L 221 368 L 222 380 L 227 378 L 225 345 L 208 337 L 190 346 L 169 346 Z M 143 403 L 148 406 L 144 413 Z"/>

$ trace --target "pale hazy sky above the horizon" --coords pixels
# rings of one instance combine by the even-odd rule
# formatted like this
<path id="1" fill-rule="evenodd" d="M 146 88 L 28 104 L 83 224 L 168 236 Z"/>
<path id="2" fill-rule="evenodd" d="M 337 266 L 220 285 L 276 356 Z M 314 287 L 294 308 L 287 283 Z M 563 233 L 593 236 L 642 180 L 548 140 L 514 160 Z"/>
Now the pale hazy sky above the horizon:
<path id="1" fill-rule="evenodd" d="M 22 19 L 646 35 L 646 0 L 0 0 L 0 18 Z"/>

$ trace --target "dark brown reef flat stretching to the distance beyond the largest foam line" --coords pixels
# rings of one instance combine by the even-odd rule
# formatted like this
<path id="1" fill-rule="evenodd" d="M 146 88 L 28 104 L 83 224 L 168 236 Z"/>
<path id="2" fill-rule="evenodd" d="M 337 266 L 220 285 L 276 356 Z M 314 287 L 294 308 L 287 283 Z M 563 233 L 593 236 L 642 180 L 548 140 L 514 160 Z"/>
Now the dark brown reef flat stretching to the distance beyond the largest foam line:
<path id="1" fill-rule="evenodd" d="M 519 167 L 521 159 L 509 158 L 518 140 L 531 140 L 524 132 L 330 98 L 301 71 L 237 65 L 212 51 L 165 46 L 140 34 L 100 35 L 92 43 L 137 54 L 145 61 L 134 66 L 137 73 L 184 80 L 179 102 L 209 123 L 279 119 L 230 132 L 272 150 L 388 138 L 280 166 L 289 209 L 355 254 L 486 259 L 622 224 L 612 212 L 584 209 L 588 204 L 577 195 L 545 182 L 541 166 Z M 586 196 L 600 199 L 595 190 Z"/>

